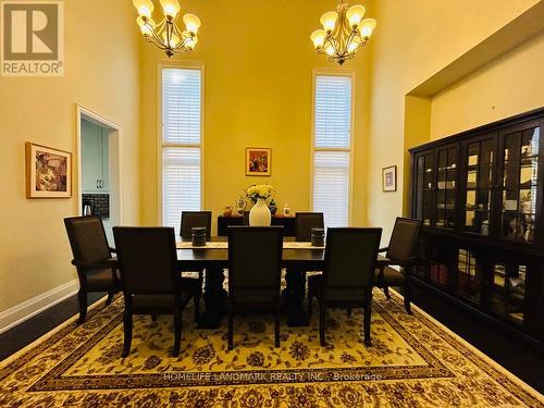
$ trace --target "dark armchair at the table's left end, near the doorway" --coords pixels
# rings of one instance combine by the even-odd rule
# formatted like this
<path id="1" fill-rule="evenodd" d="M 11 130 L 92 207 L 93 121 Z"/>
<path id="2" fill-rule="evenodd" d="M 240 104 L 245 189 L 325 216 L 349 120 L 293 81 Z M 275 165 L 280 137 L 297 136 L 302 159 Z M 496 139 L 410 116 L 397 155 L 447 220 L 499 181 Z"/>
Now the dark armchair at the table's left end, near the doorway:
<path id="1" fill-rule="evenodd" d="M 120 290 L 115 262 L 111 257 L 113 249 L 108 247 L 108 238 L 100 217 L 73 217 L 64 219 L 64 226 L 72 247 L 72 264 L 77 269 L 79 279 L 78 323 L 87 316 L 87 294 L 107 292 L 110 305 L 113 295 Z"/>

